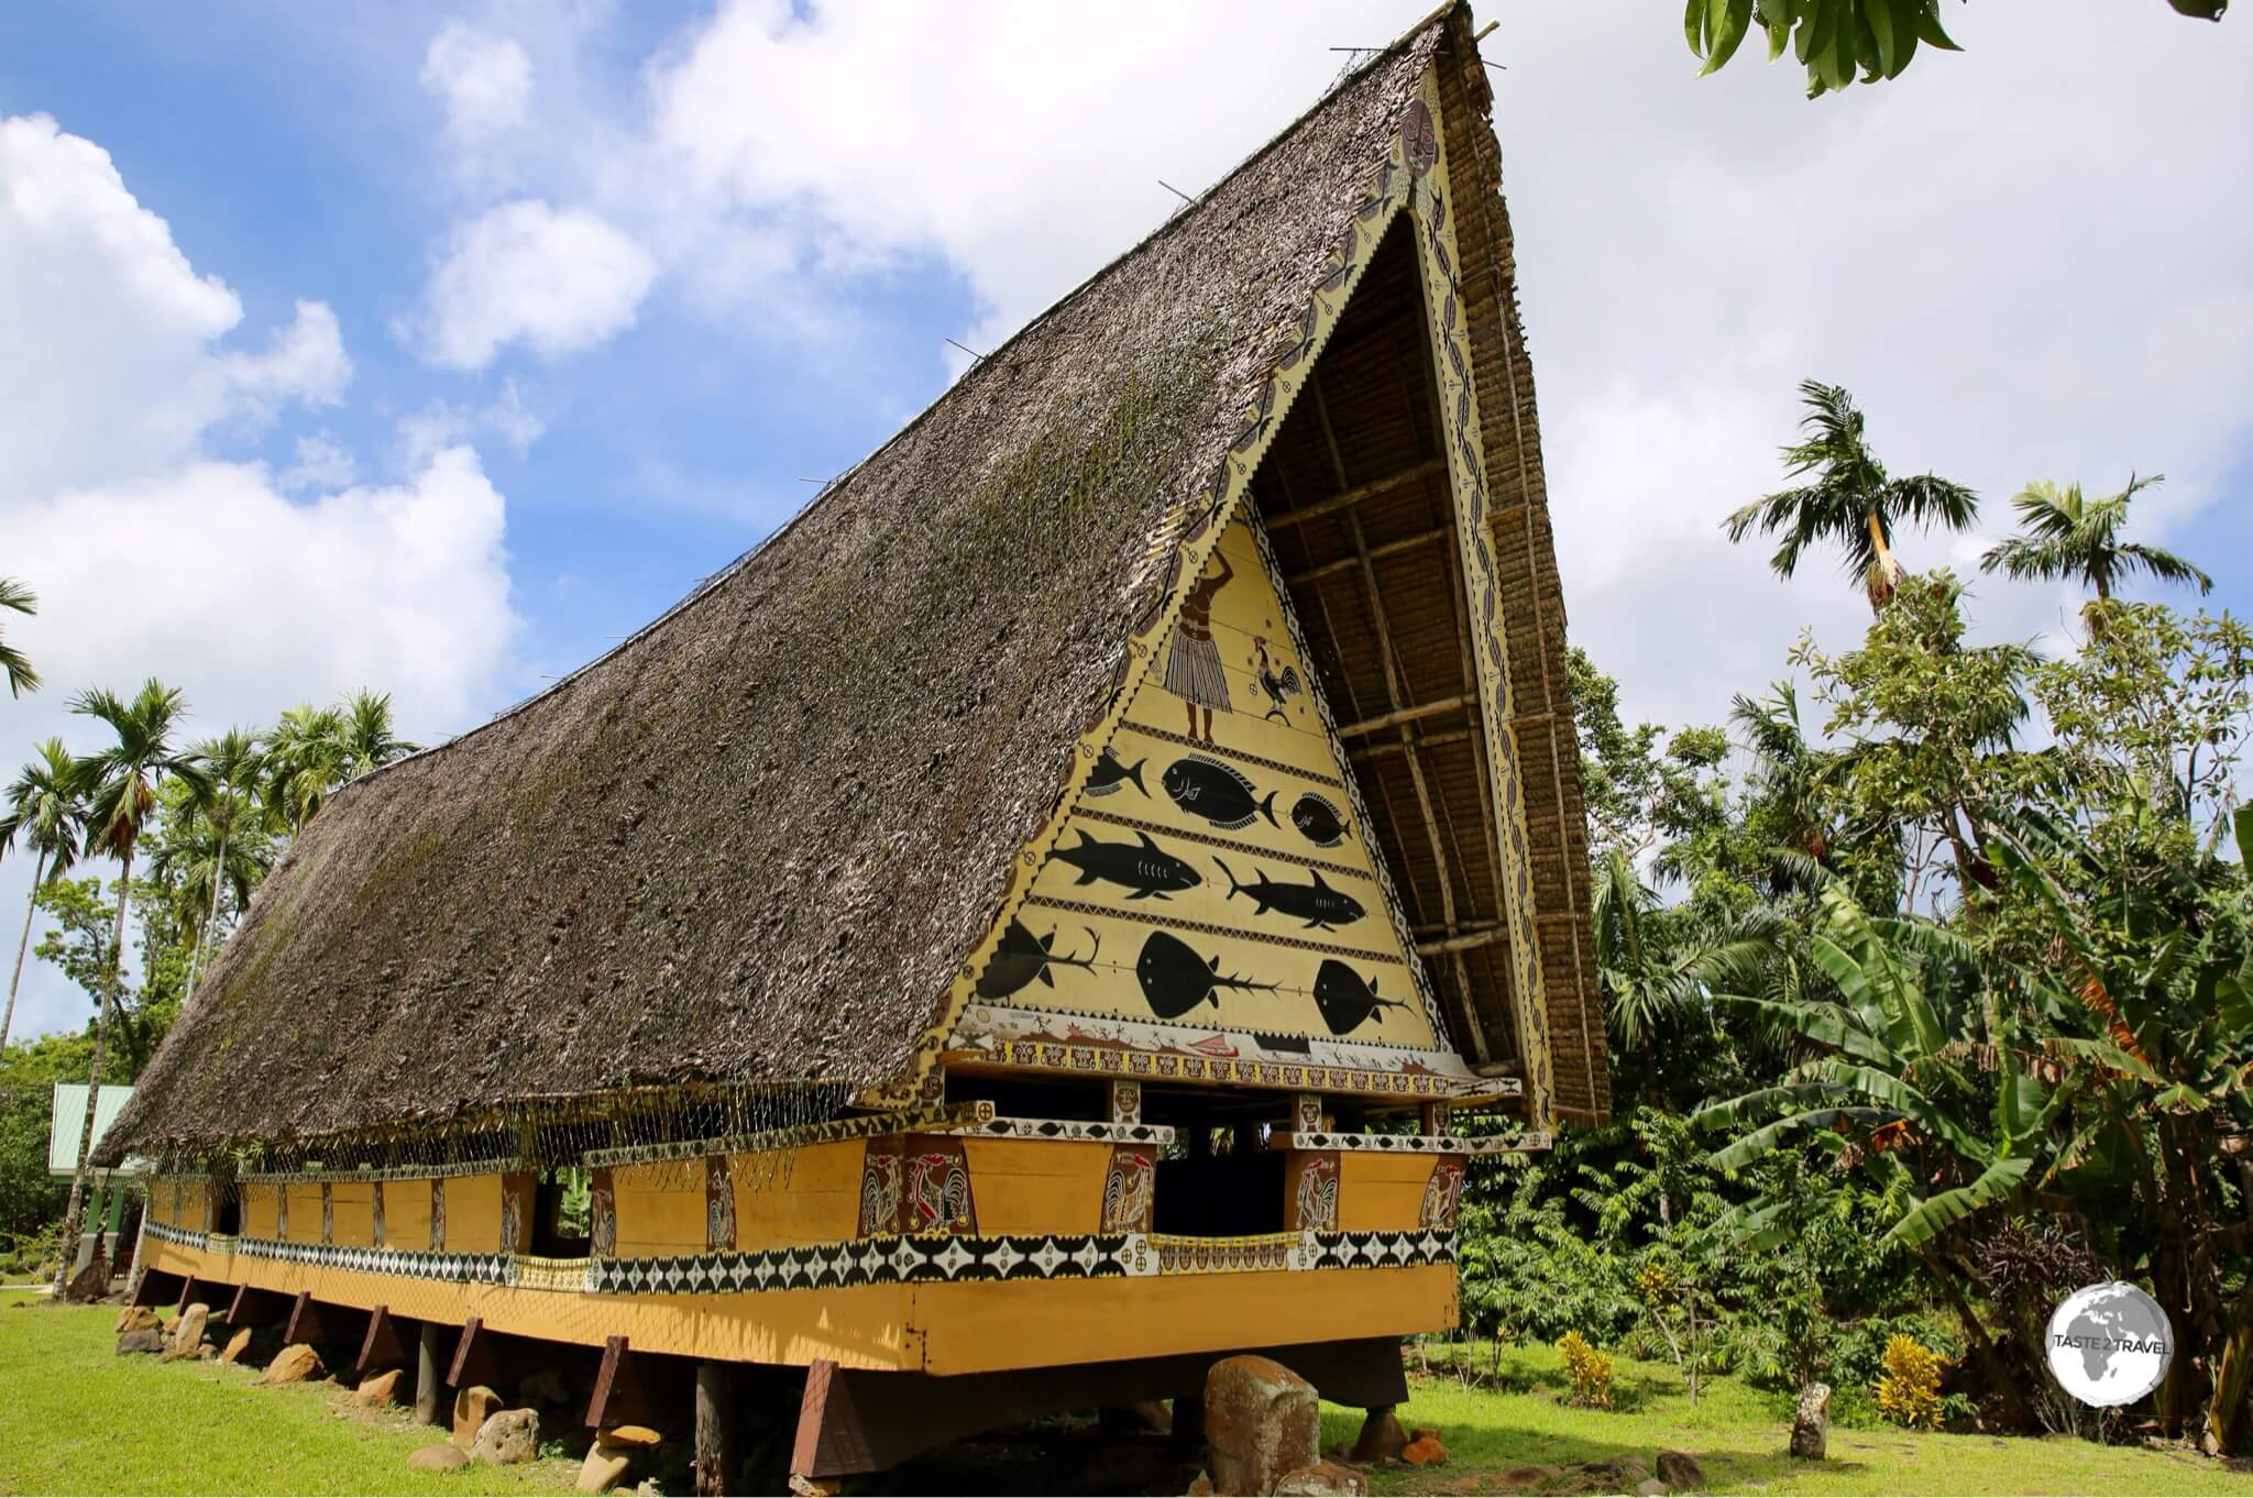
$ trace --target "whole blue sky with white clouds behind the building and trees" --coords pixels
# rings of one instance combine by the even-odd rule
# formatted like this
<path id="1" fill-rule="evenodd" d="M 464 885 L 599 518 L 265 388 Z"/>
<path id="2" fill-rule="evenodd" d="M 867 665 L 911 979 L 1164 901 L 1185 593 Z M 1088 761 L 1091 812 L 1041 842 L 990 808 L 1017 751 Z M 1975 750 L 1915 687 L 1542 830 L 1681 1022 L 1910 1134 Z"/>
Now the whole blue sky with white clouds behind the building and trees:
<path id="1" fill-rule="evenodd" d="M 1426 9 L 0 9 L 0 572 L 50 676 L 0 741 L 86 743 L 68 696 L 151 671 L 205 732 L 363 683 L 419 739 L 482 721 Z M 1814 104 L 1694 79 L 1665 7 L 1482 18 L 1573 633 L 1633 712 L 1717 719 L 1865 622 L 1717 532 L 1809 374 L 1994 529 L 2028 478 L 2165 471 L 2145 534 L 2246 610 L 2253 18 L 1962 7 L 1965 56 Z M 1978 588 L 2052 649 L 2071 608 Z M 81 1014 L 27 978 L 20 1029 Z"/>

